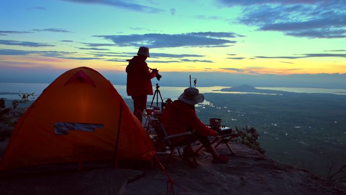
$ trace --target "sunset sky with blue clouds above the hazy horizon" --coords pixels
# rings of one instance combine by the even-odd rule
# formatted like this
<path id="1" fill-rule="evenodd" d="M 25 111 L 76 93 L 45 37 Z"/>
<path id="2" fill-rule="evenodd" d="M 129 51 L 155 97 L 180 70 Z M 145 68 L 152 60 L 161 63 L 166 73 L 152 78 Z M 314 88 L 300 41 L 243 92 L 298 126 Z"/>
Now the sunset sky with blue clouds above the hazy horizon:
<path id="1" fill-rule="evenodd" d="M 0 72 L 346 73 L 346 1 L 50 0 L 0 5 Z M 1 73 L 0 73 L 1 74 Z"/>

